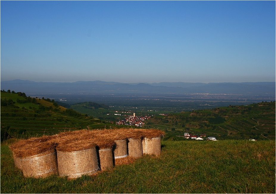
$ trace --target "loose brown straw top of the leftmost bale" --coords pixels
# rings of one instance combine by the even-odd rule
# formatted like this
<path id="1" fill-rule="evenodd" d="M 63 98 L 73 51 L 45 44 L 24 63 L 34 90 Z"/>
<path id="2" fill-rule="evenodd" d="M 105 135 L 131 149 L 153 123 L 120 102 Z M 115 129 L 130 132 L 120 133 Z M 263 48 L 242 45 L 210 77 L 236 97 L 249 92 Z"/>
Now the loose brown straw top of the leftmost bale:
<path id="1" fill-rule="evenodd" d="M 56 144 L 49 136 L 20 140 L 10 146 L 15 157 L 29 157 L 52 150 Z"/>

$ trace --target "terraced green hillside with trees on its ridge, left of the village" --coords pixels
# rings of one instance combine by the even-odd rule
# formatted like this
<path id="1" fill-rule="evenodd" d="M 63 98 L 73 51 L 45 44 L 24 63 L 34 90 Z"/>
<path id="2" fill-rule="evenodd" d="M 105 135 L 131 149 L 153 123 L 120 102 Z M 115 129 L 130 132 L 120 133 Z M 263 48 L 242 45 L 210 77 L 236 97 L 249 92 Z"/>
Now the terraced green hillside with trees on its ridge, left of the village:
<path id="1" fill-rule="evenodd" d="M 28 98 L 21 92 L 13 94 L 1 91 L 0 94 L 1 135 L 5 132 L 18 138 L 52 135 L 60 131 L 80 130 L 100 122 L 59 106 L 54 100 Z"/>

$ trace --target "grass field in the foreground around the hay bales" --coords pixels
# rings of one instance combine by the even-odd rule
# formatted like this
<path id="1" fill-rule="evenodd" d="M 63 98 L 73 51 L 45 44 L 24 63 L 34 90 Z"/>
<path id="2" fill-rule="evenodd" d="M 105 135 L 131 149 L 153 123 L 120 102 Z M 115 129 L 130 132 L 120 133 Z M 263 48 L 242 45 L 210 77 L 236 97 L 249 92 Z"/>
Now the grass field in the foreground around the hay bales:
<path id="1" fill-rule="evenodd" d="M 162 141 L 144 156 L 95 176 L 24 178 L 1 143 L 1 193 L 275 193 L 275 141 Z"/>

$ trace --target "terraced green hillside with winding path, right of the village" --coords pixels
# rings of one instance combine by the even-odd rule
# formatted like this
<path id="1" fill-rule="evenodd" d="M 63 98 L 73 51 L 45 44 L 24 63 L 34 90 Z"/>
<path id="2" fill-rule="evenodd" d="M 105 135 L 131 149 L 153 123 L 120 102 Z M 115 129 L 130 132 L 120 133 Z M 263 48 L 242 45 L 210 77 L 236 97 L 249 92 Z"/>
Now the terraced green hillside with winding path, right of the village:
<path id="1" fill-rule="evenodd" d="M 168 138 L 181 139 L 175 135 L 188 131 L 217 139 L 271 140 L 275 139 L 275 102 L 158 115 L 149 119 L 147 126 L 165 130 Z"/>

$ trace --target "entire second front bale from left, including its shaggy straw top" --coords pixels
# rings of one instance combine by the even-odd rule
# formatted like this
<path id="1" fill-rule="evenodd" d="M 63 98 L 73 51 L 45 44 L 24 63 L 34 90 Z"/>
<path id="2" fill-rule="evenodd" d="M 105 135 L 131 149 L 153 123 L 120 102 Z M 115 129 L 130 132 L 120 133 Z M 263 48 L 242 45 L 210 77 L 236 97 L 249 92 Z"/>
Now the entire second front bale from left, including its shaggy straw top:
<path id="1" fill-rule="evenodd" d="M 68 140 L 59 143 L 56 149 L 60 176 L 73 179 L 83 174 L 92 175 L 99 170 L 94 142 L 85 138 Z"/>

